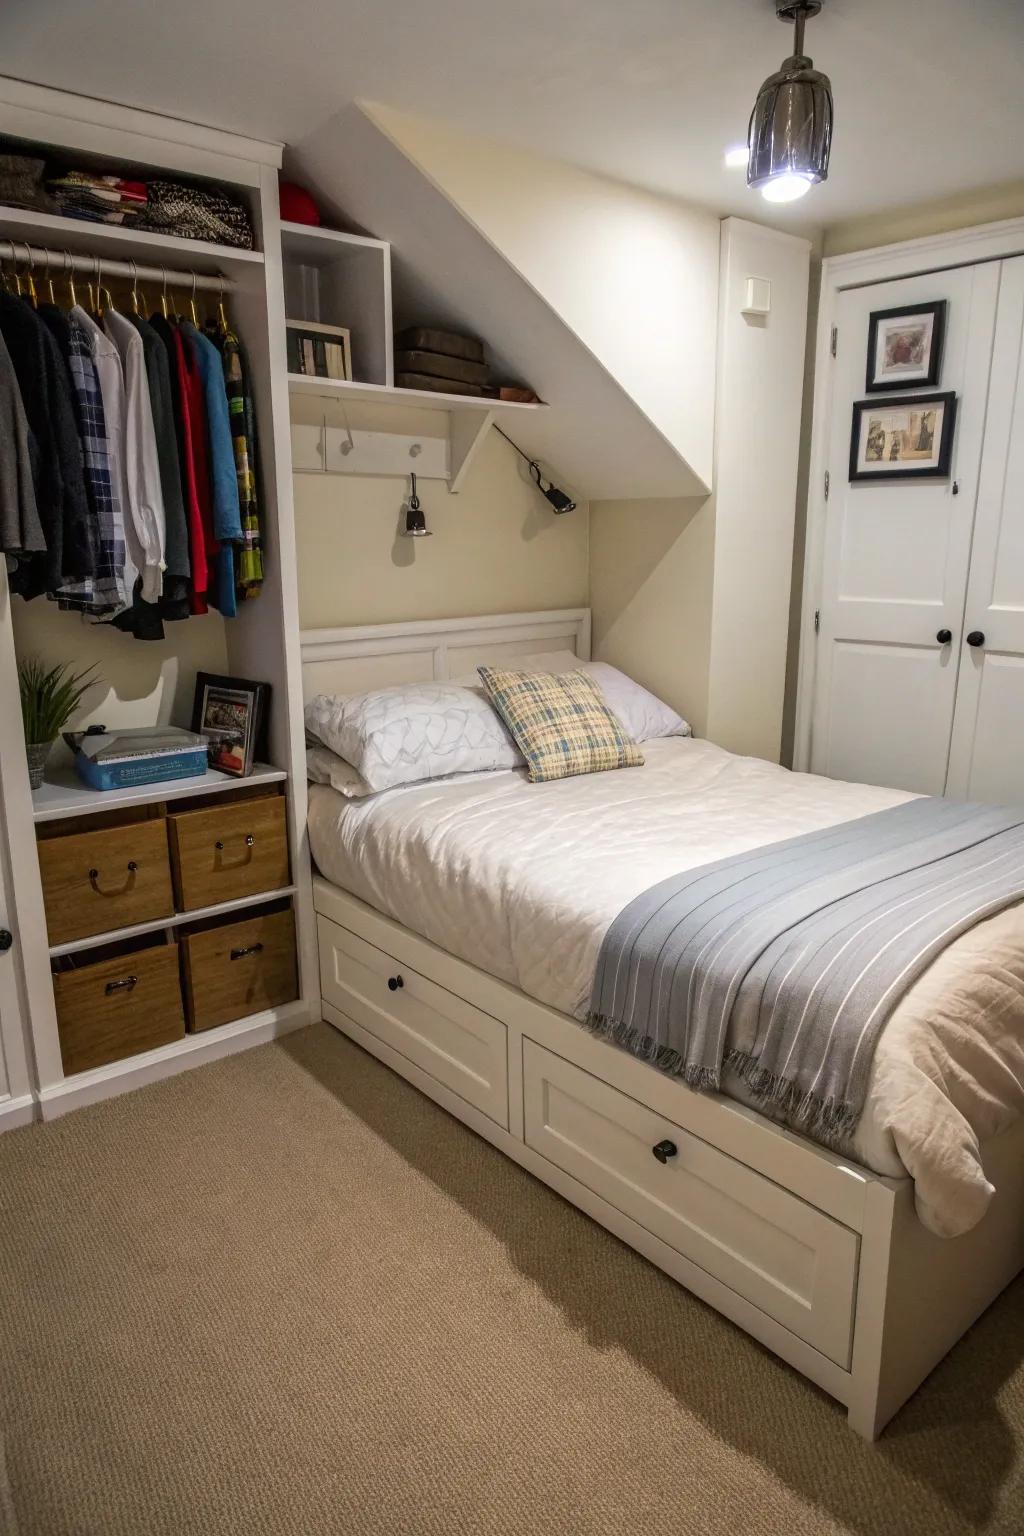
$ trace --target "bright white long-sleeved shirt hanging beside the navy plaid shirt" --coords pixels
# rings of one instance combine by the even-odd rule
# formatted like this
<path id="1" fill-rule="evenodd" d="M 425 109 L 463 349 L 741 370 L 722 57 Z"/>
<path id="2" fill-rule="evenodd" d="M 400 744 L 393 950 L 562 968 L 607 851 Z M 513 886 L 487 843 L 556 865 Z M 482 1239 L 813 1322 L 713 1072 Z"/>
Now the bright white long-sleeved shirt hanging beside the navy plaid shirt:
<path id="1" fill-rule="evenodd" d="M 143 338 L 130 319 L 118 315 L 115 309 L 104 312 L 103 329 L 117 347 L 124 367 L 124 478 L 130 508 L 130 519 L 124 519 L 126 531 L 130 521 L 141 551 L 138 568 L 143 578 L 143 598 L 146 602 L 155 602 L 163 591 L 167 519 L 160 485 L 146 353 Z"/>

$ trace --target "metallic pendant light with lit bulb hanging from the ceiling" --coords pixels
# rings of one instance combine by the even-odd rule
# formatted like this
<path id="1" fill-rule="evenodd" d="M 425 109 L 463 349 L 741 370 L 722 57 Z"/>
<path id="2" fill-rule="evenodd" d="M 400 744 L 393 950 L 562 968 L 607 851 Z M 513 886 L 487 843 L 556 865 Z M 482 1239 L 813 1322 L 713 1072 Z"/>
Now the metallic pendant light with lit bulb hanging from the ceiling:
<path id="1" fill-rule="evenodd" d="M 769 203 L 792 203 L 829 174 L 832 86 L 803 51 L 808 17 L 823 0 L 775 0 L 780 22 L 792 22 L 792 55 L 757 92 L 746 135 L 746 184 Z"/>

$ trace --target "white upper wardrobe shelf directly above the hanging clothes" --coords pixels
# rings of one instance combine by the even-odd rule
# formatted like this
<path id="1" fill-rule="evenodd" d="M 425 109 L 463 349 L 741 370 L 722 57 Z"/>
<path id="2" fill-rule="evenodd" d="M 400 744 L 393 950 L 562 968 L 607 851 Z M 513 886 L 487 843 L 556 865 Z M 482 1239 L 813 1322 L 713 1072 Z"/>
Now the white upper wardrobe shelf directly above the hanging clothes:
<path id="1" fill-rule="evenodd" d="M 109 257 L 112 261 L 135 260 L 149 266 L 161 266 L 166 260 L 175 270 L 213 275 L 223 272 L 226 276 L 236 267 L 263 266 L 261 250 L 215 246 L 206 240 L 181 240 L 180 235 L 160 235 L 123 224 L 94 224 L 83 218 L 38 214 L 31 207 L 0 207 L 0 240 L 28 240 L 29 244 L 52 249 L 57 257 L 51 264 L 54 280 L 60 276 L 61 250 L 72 255 Z M 38 276 L 37 267 L 37 284 Z"/>

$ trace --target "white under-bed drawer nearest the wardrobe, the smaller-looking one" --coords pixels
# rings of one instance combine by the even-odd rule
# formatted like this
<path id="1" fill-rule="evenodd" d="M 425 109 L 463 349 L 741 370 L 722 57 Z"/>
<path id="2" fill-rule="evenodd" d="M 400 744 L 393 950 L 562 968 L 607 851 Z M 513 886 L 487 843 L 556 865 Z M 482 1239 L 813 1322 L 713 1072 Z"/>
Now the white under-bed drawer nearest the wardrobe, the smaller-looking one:
<path id="1" fill-rule="evenodd" d="M 324 1001 L 508 1129 L 505 1026 L 347 928 L 318 932 Z"/>

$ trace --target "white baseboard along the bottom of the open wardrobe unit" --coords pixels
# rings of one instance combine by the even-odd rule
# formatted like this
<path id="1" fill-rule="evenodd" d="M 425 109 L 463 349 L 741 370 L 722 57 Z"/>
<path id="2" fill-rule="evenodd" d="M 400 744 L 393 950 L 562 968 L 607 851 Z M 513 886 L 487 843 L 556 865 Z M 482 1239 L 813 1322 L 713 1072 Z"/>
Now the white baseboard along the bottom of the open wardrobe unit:
<path id="1" fill-rule="evenodd" d="M 164 1077 L 175 1077 L 206 1061 L 249 1051 L 267 1040 L 276 1040 L 278 1035 L 292 1034 L 293 1029 L 304 1029 L 309 1023 L 310 1005 L 298 1000 L 281 1008 L 267 1008 L 249 1018 L 235 1018 L 216 1029 L 186 1035 L 169 1046 L 158 1046 L 157 1051 L 143 1051 L 140 1055 L 111 1061 L 91 1072 L 77 1072 L 38 1091 L 43 1120 L 57 1120 L 71 1109 L 81 1109 L 83 1104 L 95 1104 L 101 1098 L 127 1094 L 130 1089 L 144 1087 L 146 1083 L 158 1083 Z"/>

